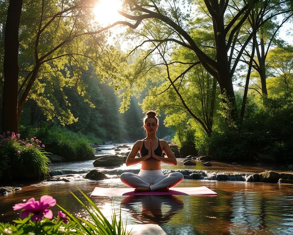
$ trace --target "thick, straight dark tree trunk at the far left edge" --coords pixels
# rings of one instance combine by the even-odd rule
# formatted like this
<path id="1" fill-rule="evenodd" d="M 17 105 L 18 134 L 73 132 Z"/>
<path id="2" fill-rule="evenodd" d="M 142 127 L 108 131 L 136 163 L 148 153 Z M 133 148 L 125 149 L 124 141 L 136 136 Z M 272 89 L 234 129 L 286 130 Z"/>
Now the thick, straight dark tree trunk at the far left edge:
<path id="1" fill-rule="evenodd" d="M 18 133 L 18 32 L 22 0 L 10 0 L 4 39 L 2 131 Z"/>

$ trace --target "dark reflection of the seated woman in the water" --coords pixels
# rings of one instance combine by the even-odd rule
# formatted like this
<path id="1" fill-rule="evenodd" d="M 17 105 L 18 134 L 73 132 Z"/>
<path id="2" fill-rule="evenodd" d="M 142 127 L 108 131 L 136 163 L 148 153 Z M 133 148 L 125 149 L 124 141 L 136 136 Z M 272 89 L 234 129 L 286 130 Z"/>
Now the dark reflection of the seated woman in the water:
<path id="1" fill-rule="evenodd" d="M 174 195 L 127 196 L 121 207 L 139 223 L 162 224 L 183 209 L 183 201 Z"/>

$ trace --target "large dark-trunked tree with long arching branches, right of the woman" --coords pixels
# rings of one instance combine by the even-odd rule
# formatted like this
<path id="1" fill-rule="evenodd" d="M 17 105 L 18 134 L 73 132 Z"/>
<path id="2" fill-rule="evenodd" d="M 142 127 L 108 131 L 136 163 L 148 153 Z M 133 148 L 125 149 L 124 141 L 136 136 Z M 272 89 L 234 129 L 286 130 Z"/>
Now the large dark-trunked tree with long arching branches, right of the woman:
<path id="1" fill-rule="evenodd" d="M 190 50 L 190 53 L 193 53 L 194 56 L 189 60 L 189 69 L 197 63 L 201 63 L 204 69 L 216 78 L 223 95 L 223 102 L 225 103 L 228 99 L 232 104 L 232 108 L 229 112 L 232 119 L 236 121 L 238 117 L 232 78 L 241 55 L 252 38 L 252 33 L 244 39 L 241 48 L 237 48 L 236 58 L 233 58 L 233 53 L 236 50 L 235 45 L 239 30 L 246 21 L 256 2 L 257 1 L 232 2 L 230 5 L 229 0 L 197 1 L 197 5 L 192 5 L 193 7 L 197 7 L 197 11 L 187 11 L 188 13 L 184 13 L 180 10 L 180 1 L 171 2 L 167 0 L 165 1 L 166 4 L 164 4 L 155 1 L 146 3 L 129 0 L 126 1 L 125 4 L 129 6 L 130 12 L 120 12 L 120 14 L 128 19 L 136 21 L 136 23 L 130 24 L 129 22 L 121 22 L 121 24 L 126 24 L 131 28 L 136 29 L 142 21 L 144 21 L 144 25 L 148 25 L 148 22 L 152 21 L 154 24 L 161 24 L 164 25 L 165 28 L 168 28 L 168 32 L 170 33 L 163 30 L 156 34 L 150 31 L 147 27 L 142 27 L 134 31 L 136 37 L 140 35 L 145 38 L 138 47 L 150 43 L 150 48 L 152 49 L 150 49 L 149 54 L 151 54 L 151 52 L 157 48 L 161 49 L 162 47 L 167 47 L 162 45 L 167 42 L 169 45 L 168 48 L 177 48 L 181 46 Z M 197 21 L 191 21 L 192 23 L 187 20 L 190 18 L 196 18 L 195 13 L 199 12 L 205 13 L 205 16 L 201 14 L 197 18 Z M 213 37 L 212 40 L 209 38 L 208 41 L 197 42 L 196 37 L 194 37 L 193 34 L 193 29 L 196 28 L 196 23 L 197 25 L 200 25 L 200 22 L 202 21 L 204 21 L 205 24 L 212 25 Z M 213 53 L 207 54 L 205 52 L 207 47 L 213 50 Z M 165 64 L 170 65 L 171 63 L 178 63 L 167 61 L 167 59 Z M 182 75 L 185 73 L 186 71 L 183 70 Z M 179 77 L 181 78 L 182 76 Z M 172 87 L 174 88 L 173 85 Z M 227 99 L 225 99 L 224 96 L 226 96 Z"/>

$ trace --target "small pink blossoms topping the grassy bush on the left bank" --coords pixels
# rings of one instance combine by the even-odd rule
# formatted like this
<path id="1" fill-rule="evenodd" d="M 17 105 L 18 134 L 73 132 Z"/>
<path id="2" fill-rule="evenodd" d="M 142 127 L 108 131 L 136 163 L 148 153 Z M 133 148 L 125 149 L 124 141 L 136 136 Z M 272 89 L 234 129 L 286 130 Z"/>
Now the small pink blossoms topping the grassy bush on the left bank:
<path id="1" fill-rule="evenodd" d="M 3 132 L 3 134 L 0 135 L 0 146 L 4 144 L 5 142 L 9 142 L 9 140 L 17 141 L 18 143 L 25 144 L 26 146 L 43 147 L 43 148 L 45 147 L 45 145 L 42 144 L 42 141 L 38 140 L 36 137 L 33 137 L 31 139 L 25 138 L 25 140 L 20 140 L 20 134 L 18 133 L 15 134 L 14 132 L 10 132 L 10 131 L 6 131 L 6 133 Z M 19 153 L 19 151 L 17 151 L 17 153 Z"/>

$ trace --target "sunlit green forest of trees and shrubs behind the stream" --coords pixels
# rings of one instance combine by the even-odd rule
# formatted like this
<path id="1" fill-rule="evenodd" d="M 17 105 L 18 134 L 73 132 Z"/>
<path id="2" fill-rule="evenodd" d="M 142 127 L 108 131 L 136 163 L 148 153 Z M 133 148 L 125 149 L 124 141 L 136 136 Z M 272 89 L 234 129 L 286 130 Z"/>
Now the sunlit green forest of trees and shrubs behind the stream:
<path id="1" fill-rule="evenodd" d="M 5 145 L 11 132 L 86 159 L 88 142 L 143 138 L 147 110 L 160 137 L 198 154 L 292 161 L 293 46 L 279 36 L 292 1 L 130 0 L 109 26 L 95 20 L 97 1 L 0 3 L 6 166 L 24 158 Z"/>

